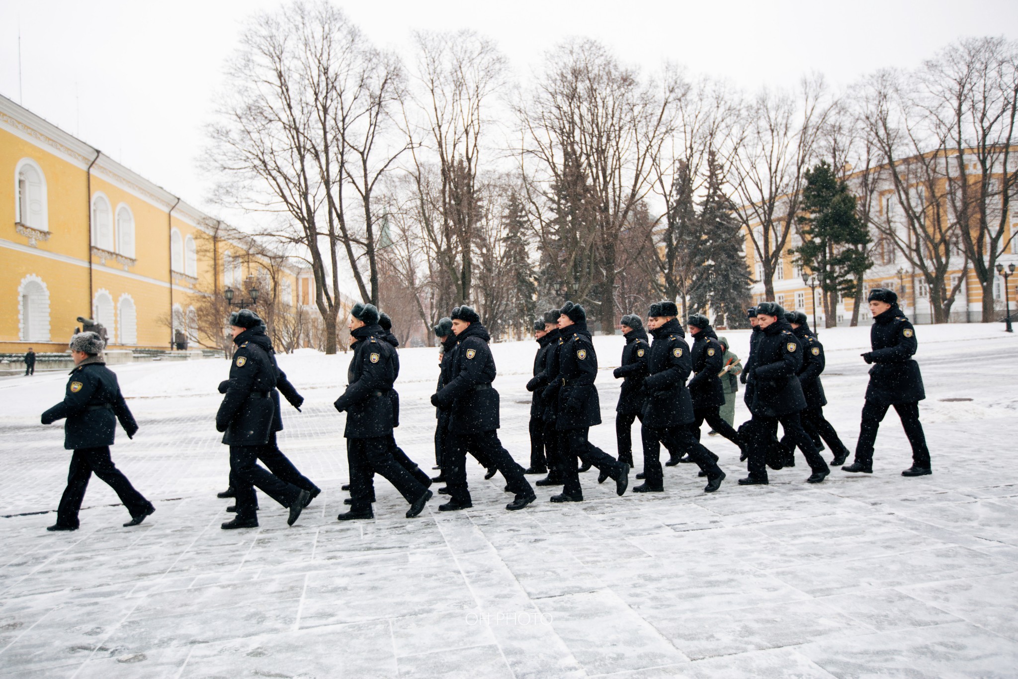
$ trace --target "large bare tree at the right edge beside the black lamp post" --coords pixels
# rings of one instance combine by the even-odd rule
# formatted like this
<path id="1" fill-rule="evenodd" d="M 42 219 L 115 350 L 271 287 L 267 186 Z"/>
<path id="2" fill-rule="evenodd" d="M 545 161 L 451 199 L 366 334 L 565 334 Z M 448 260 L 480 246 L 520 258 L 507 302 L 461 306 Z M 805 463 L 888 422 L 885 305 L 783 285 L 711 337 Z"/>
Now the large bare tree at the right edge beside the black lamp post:
<path id="1" fill-rule="evenodd" d="M 943 171 L 948 205 L 972 272 L 982 288 L 982 322 L 994 321 L 997 260 L 1014 238 L 1010 205 L 1018 186 L 1013 162 L 1018 115 L 1018 43 L 962 40 L 926 61 L 918 101 L 932 135 L 953 154 Z"/>

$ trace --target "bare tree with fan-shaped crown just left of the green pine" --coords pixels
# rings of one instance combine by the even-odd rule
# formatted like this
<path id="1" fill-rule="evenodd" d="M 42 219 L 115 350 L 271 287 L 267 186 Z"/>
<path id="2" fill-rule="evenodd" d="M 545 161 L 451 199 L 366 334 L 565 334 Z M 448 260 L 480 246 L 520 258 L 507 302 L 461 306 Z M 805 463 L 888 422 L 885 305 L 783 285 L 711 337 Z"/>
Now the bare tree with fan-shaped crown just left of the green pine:
<path id="1" fill-rule="evenodd" d="M 775 272 L 784 266 L 805 171 L 830 110 L 819 76 L 803 79 L 795 93 L 765 90 L 745 108 L 743 133 L 726 162 L 768 299 L 774 298 Z"/>

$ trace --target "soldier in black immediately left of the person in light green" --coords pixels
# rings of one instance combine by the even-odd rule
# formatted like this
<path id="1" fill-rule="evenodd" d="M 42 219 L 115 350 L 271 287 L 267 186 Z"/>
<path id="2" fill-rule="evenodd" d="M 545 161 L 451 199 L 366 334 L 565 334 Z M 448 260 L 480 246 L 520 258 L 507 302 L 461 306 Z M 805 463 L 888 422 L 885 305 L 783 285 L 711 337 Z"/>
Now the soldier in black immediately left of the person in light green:
<path id="1" fill-rule="evenodd" d="M 718 335 L 711 327 L 711 321 L 702 314 L 693 314 L 688 319 L 689 333 L 693 336 L 692 370 L 689 380 L 689 395 L 693 400 L 693 422 L 691 431 L 696 440 L 700 439 L 703 420 L 711 430 L 725 437 L 742 449 L 742 440 L 721 416 L 721 406 L 725 405 L 725 388 L 718 375 L 724 369 L 725 347 L 718 341 Z"/>

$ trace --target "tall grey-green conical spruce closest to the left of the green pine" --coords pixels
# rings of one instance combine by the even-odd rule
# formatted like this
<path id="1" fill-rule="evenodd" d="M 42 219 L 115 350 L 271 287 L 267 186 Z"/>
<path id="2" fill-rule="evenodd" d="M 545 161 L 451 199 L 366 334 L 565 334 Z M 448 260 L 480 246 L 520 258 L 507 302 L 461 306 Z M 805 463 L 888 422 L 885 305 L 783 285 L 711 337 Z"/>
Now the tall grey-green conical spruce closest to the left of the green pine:
<path id="1" fill-rule="evenodd" d="M 715 325 L 742 328 L 747 325 L 744 312 L 749 301 L 749 272 L 742 251 L 742 228 L 734 212 L 735 205 L 725 192 L 724 168 L 711 152 L 706 193 L 696 217 L 702 243 L 691 306 L 693 312 L 709 308 Z"/>

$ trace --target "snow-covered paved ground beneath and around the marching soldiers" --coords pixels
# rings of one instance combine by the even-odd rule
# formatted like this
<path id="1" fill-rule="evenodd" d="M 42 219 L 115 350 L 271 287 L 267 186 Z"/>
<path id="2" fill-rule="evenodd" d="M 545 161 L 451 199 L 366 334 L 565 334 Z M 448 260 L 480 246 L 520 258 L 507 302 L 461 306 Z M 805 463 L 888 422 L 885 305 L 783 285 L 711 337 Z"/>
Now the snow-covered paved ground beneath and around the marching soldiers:
<path id="1" fill-rule="evenodd" d="M 406 519 L 379 479 L 377 518 L 353 525 L 335 520 L 347 472 L 332 402 L 348 355 L 280 357 L 306 398 L 284 411 L 280 445 L 324 492 L 293 527 L 261 496 L 252 530 L 219 529 L 225 360 L 115 366 L 142 429 L 118 434 L 114 460 L 158 509 L 135 528 L 94 479 L 81 529 L 44 529 L 69 453 L 39 413 L 66 376 L 0 381 L 0 675 L 1014 677 L 1018 339 L 1000 325 L 916 332 L 931 476 L 899 475 L 910 455 L 892 411 L 872 475 L 807 486 L 799 457 L 771 486 L 739 488 L 738 451 L 704 436 L 729 474 L 713 495 L 683 464 L 664 494 L 618 498 L 590 472 L 582 504 L 543 491 L 506 512 L 501 476 L 474 465 L 473 509 L 439 513 L 436 498 Z M 723 334 L 744 357 L 748 332 Z M 868 328 L 821 339 L 826 412 L 853 448 Z M 622 342 L 596 338 L 604 423 L 591 440 L 610 453 Z M 493 345 L 500 435 L 524 464 L 535 347 Z M 397 440 L 429 468 L 437 351 L 400 356 Z"/>

